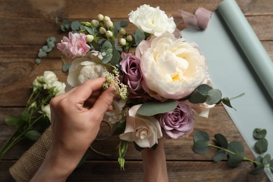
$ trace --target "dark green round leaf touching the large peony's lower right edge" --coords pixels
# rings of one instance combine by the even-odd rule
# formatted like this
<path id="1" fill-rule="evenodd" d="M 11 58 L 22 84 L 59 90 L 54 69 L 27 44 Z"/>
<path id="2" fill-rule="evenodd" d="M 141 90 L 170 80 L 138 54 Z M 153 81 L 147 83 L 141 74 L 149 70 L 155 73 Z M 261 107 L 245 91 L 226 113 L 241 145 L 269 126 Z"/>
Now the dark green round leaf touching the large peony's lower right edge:
<path id="1" fill-rule="evenodd" d="M 206 84 L 199 85 L 190 97 L 188 97 L 188 101 L 193 104 L 203 103 L 206 102 L 207 94 L 209 90 L 212 90 L 212 87 Z"/>

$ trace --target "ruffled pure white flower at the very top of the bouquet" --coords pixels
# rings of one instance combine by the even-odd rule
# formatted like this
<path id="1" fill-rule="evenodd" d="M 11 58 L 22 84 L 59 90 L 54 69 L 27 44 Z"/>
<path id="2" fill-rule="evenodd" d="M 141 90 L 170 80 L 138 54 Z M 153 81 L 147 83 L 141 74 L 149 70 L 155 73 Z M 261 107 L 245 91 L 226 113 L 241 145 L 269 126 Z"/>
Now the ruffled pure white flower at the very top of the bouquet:
<path id="1" fill-rule="evenodd" d="M 132 11 L 129 20 L 142 31 L 155 36 L 161 36 L 165 32 L 173 33 L 176 29 L 174 18 L 168 18 L 159 7 L 153 8 L 146 4 Z"/>

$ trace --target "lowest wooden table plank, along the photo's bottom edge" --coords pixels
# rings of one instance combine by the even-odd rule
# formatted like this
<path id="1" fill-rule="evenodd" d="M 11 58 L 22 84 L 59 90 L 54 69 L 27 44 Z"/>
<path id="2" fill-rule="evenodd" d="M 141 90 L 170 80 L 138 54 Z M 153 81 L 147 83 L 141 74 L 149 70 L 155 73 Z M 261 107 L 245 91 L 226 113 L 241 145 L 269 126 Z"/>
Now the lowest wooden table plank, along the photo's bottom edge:
<path id="1" fill-rule="evenodd" d="M 8 168 L 15 161 L 0 162 L 0 181 L 14 181 Z M 249 162 L 231 169 L 225 162 L 167 162 L 169 181 L 269 181 L 265 174 L 251 176 L 248 172 L 253 168 Z M 211 169 L 214 172 L 211 173 Z M 142 181 L 143 169 L 141 161 L 128 161 L 125 172 L 120 170 L 116 162 L 87 161 L 76 169 L 67 181 Z"/>

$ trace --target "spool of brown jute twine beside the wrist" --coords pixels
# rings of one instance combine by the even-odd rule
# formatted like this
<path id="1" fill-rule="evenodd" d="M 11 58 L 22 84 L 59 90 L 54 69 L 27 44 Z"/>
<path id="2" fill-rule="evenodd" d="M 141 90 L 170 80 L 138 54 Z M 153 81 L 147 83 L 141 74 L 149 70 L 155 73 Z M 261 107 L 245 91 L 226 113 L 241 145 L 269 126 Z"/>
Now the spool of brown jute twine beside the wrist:
<path id="1" fill-rule="evenodd" d="M 36 143 L 10 167 L 10 174 L 17 182 L 29 181 L 43 163 L 52 144 L 52 130 L 48 127 Z"/>

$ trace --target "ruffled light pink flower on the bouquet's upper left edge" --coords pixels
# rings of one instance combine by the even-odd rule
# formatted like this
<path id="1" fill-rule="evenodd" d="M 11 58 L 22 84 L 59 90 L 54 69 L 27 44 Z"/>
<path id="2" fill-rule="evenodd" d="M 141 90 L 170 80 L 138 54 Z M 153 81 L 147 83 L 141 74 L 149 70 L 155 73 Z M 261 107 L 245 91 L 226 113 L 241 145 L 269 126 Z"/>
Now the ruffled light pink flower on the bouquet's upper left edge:
<path id="1" fill-rule="evenodd" d="M 83 56 L 90 50 L 90 46 L 85 41 L 85 34 L 72 34 L 71 31 L 68 38 L 64 36 L 61 43 L 57 43 L 57 48 L 70 59 Z"/>

